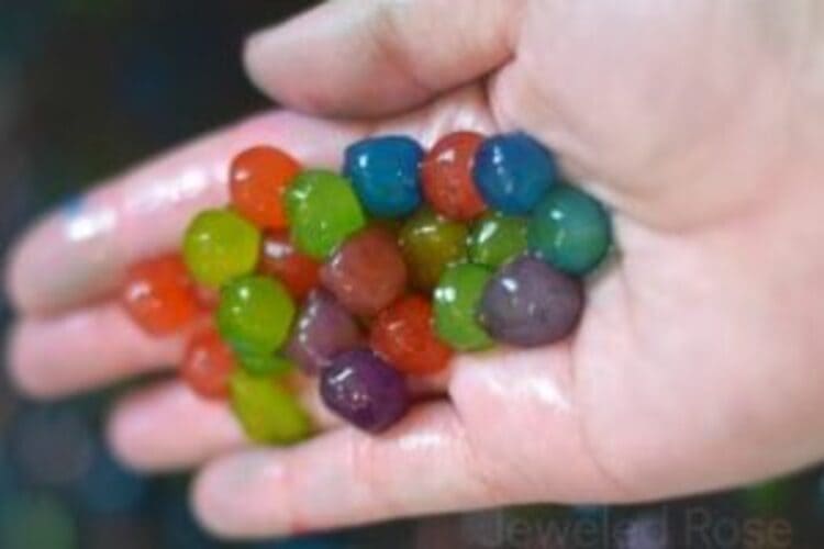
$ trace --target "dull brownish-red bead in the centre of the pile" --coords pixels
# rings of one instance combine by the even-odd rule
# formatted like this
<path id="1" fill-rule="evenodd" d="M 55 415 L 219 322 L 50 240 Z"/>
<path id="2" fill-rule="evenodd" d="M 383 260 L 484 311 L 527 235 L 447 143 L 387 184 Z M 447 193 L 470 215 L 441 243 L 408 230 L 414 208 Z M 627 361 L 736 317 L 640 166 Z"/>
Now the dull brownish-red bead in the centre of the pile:
<path id="1" fill-rule="evenodd" d="M 407 264 L 394 237 L 382 228 L 363 231 L 341 246 L 321 269 L 323 284 L 346 309 L 374 315 L 407 288 Z"/>

